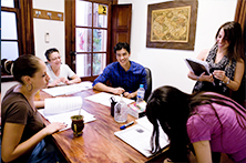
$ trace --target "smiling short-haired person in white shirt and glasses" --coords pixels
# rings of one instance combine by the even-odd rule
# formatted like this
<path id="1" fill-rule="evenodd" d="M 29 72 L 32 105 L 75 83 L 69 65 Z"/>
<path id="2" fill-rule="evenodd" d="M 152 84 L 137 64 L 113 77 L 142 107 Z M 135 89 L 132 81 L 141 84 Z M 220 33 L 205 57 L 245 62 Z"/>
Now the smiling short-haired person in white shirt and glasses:
<path id="1" fill-rule="evenodd" d="M 55 48 L 45 51 L 47 73 L 50 77 L 48 86 L 80 83 L 81 79 L 66 64 L 61 63 L 61 55 Z M 71 80 L 69 80 L 71 79 Z"/>

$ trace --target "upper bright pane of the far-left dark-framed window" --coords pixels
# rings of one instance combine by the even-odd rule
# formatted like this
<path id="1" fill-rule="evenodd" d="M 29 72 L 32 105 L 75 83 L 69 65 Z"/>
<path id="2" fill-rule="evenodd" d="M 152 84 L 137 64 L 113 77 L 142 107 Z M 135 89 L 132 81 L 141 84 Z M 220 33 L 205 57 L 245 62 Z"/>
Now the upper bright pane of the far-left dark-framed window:
<path id="1" fill-rule="evenodd" d="M 1 11 L 1 39 L 17 40 L 17 19 L 14 12 Z"/>

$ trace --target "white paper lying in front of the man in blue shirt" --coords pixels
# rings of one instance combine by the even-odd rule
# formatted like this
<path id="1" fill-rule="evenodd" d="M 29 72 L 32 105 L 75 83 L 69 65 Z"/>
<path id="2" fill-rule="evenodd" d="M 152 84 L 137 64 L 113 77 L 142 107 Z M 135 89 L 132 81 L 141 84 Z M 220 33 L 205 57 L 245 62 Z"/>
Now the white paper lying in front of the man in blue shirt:
<path id="1" fill-rule="evenodd" d="M 121 99 L 120 95 L 114 95 L 114 94 L 110 94 L 110 93 L 106 93 L 106 92 L 100 92 L 100 93 L 86 96 L 85 99 L 90 100 L 90 101 L 93 101 L 93 102 L 96 102 L 96 103 L 101 103 L 101 104 L 106 105 L 106 106 L 111 106 L 111 102 L 110 102 L 111 96 L 113 96 L 115 99 L 115 101 L 120 101 L 120 99 Z M 131 99 L 127 99 L 127 98 L 122 98 L 122 99 L 126 104 L 130 104 L 130 103 L 134 102 L 134 100 L 131 100 Z"/>

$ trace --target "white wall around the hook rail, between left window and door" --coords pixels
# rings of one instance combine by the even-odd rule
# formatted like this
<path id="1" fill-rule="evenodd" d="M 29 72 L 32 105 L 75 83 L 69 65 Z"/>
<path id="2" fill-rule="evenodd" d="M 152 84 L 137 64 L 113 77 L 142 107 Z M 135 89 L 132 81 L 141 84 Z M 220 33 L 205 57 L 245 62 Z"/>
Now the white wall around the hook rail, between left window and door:
<path id="1" fill-rule="evenodd" d="M 62 62 L 65 63 L 65 17 L 64 17 L 64 0 L 33 0 L 33 9 L 50 10 L 63 12 L 63 21 L 33 19 L 34 32 L 34 49 L 35 55 L 47 61 L 44 52 L 49 48 L 57 48 L 62 57 Z M 50 42 L 47 43 L 44 34 L 49 32 Z"/>

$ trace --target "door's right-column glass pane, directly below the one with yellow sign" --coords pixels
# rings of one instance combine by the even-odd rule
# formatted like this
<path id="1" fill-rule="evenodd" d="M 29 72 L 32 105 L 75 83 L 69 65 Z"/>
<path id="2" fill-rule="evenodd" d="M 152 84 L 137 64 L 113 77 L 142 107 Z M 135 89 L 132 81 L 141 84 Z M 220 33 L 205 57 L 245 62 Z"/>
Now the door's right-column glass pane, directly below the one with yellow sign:
<path id="1" fill-rule="evenodd" d="M 106 51 L 106 30 L 93 29 L 93 51 Z"/>

